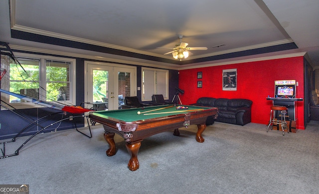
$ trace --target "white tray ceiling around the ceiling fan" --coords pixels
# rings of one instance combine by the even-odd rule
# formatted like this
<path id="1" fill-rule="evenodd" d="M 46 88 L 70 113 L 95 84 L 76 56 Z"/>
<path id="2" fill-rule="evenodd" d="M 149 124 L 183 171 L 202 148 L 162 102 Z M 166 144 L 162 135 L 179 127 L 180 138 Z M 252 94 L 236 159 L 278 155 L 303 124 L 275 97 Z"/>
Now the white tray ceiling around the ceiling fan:
<path id="1" fill-rule="evenodd" d="M 1 12 L 8 13 L 6 4 Z M 13 29 L 170 60 L 163 55 L 170 50 L 157 47 L 174 47 L 182 34 L 189 47 L 208 48 L 187 60 L 295 42 L 298 49 L 289 52 L 307 52 L 319 66 L 318 0 L 11 0 L 11 10 Z M 3 17 L 9 16 L 0 18 L 0 33 L 7 34 Z M 9 35 L 0 41 L 79 52 Z"/>

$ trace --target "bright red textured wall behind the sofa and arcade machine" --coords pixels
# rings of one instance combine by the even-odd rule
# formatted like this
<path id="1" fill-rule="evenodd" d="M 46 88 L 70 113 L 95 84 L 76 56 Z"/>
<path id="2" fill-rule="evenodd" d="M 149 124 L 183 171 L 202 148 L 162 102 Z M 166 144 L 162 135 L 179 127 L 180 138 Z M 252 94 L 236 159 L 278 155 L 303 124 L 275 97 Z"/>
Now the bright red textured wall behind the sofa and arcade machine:
<path id="1" fill-rule="evenodd" d="M 237 68 L 237 91 L 223 91 L 222 71 L 232 68 Z M 197 79 L 199 71 L 201 79 Z M 185 91 L 180 99 L 185 105 L 196 103 L 200 97 L 249 99 L 253 101 L 252 123 L 267 125 L 273 102 L 266 98 L 274 97 L 275 80 L 287 79 L 299 83 L 296 97 L 304 98 L 304 57 L 180 70 L 179 88 Z M 197 81 L 202 81 L 202 88 L 197 88 Z M 297 129 L 305 129 L 304 102 L 296 102 L 296 105 Z"/>

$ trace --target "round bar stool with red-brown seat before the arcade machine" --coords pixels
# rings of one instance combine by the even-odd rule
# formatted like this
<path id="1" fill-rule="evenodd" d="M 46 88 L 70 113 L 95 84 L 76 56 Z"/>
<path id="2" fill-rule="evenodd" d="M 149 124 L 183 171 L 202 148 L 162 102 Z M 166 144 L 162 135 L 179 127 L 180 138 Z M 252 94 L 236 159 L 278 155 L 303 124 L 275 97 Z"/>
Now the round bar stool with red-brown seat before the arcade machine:
<path id="1" fill-rule="evenodd" d="M 277 119 L 277 117 L 276 117 L 277 111 L 281 112 L 280 120 L 279 120 L 279 118 Z M 288 127 L 287 127 L 287 122 L 286 122 L 286 113 L 287 113 L 287 107 L 285 107 L 285 106 L 276 106 L 276 105 L 271 106 L 270 107 L 270 120 L 269 120 L 269 124 L 267 126 L 267 132 L 268 132 L 268 128 L 269 128 L 269 126 L 271 126 L 271 124 L 273 124 L 273 125 L 277 124 L 277 125 L 281 126 L 281 129 L 283 129 L 283 135 L 285 135 L 285 129 L 287 129 L 287 131 L 289 132 Z"/>

